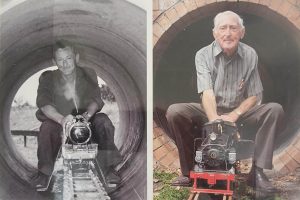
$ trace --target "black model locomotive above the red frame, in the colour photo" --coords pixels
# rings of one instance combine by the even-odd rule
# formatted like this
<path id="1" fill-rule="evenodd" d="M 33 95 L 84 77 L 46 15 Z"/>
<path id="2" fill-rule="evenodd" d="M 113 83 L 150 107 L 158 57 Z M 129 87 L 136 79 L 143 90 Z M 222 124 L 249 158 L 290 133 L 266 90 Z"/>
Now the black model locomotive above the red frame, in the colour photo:
<path id="1" fill-rule="evenodd" d="M 217 120 L 204 125 L 202 137 L 194 141 L 196 172 L 223 170 L 234 173 L 239 132 L 234 123 Z"/>

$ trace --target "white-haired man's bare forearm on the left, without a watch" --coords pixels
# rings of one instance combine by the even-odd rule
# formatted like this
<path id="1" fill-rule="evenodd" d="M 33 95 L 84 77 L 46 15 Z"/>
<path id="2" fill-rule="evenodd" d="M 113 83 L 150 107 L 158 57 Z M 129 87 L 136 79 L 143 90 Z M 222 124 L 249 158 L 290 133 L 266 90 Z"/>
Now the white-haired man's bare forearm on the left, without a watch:
<path id="1" fill-rule="evenodd" d="M 204 90 L 202 93 L 202 105 L 208 121 L 214 121 L 221 117 L 217 114 L 216 97 L 212 89 Z"/>

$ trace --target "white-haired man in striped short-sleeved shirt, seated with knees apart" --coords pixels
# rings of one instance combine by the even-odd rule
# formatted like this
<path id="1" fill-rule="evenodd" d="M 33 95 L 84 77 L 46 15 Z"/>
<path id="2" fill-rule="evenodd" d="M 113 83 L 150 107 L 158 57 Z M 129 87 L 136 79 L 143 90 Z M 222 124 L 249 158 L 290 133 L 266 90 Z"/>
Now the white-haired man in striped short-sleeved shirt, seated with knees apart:
<path id="1" fill-rule="evenodd" d="M 277 103 L 260 104 L 262 83 L 255 50 L 240 42 L 245 34 L 243 20 L 225 11 L 214 19 L 215 41 L 200 49 L 195 57 L 197 87 L 201 104 L 171 105 L 166 113 L 170 135 L 180 157 L 182 176 L 173 185 L 188 185 L 193 167 L 195 125 L 224 120 L 243 123 L 255 130 L 255 152 L 248 183 L 259 190 L 274 192 L 263 169 L 272 168 L 274 140 L 282 130 L 284 111 Z"/>

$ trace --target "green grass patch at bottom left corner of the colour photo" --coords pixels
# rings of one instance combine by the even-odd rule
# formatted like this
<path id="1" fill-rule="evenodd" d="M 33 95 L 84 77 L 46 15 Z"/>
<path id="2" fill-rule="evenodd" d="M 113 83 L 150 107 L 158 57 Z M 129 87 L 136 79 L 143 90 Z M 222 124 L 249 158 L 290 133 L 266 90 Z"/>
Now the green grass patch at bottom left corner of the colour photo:
<path id="1" fill-rule="evenodd" d="M 188 188 L 175 188 L 170 186 L 170 182 L 178 175 L 175 173 L 167 173 L 164 171 L 154 171 L 154 178 L 163 184 L 159 194 L 154 200 L 184 200 L 188 198 Z"/>

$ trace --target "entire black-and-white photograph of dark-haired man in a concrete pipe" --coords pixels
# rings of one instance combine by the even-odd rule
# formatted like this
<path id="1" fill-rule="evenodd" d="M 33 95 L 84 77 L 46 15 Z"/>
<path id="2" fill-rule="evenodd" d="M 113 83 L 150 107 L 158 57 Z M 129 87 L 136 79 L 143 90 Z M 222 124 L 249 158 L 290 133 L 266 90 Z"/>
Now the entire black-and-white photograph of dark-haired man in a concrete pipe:
<path id="1" fill-rule="evenodd" d="M 147 199 L 147 12 L 0 1 L 0 199 Z"/>

